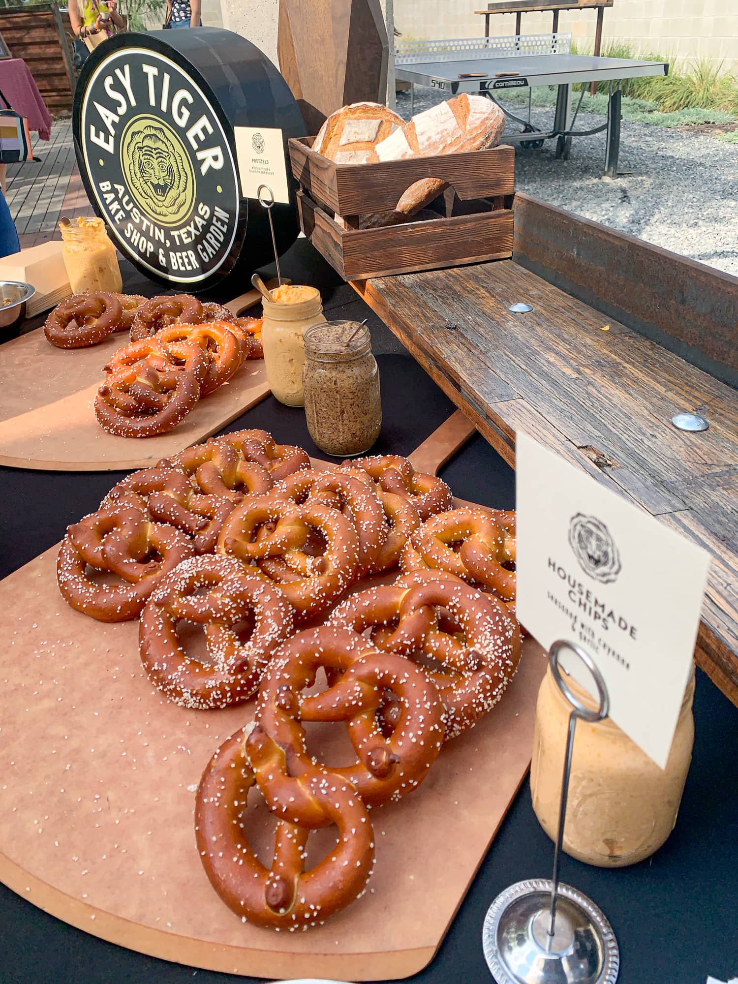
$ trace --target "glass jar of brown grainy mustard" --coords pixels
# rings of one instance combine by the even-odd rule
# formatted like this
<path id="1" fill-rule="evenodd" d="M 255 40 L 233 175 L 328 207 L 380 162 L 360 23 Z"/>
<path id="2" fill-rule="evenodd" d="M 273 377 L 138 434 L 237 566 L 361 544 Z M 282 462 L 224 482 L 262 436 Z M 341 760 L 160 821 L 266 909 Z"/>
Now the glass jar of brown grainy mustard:
<path id="1" fill-rule="evenodd" d="M 327 455 L 362 455 L 379 437 L 382 400 L 369 329 L 329 321 L 305 332 L 305 416 Z"/>

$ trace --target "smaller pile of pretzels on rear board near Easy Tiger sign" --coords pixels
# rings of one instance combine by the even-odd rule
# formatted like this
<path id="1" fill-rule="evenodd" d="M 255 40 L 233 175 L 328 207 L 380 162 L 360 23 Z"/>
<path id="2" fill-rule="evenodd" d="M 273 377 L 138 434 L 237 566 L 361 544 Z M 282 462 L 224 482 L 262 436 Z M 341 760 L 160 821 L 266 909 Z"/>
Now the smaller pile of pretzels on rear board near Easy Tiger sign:
<path id="1" fill-rule="evenodd" d="M 154 437 L 176 427 L 198 400 L 226 383 L 245 359 L 263 357 L 262 319 L 236 318 L 189 294 L 152 297 L 78 294 L 46 319 L 61 348 L 93 345 L 130 331 L 104 367 L 94 400 L 99 425 L 118 437 Z"/>

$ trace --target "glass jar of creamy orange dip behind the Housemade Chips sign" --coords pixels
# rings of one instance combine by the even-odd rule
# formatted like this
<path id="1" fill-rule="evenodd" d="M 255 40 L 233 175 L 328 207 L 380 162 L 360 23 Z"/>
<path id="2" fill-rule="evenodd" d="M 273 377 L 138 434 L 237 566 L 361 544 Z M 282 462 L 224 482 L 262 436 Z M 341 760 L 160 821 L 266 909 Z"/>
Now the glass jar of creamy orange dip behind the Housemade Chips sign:
<path id="1" fill-rule="evenodd" d="M 587 707 L 596 703 L 563 673 Z M 694 673 L 687 685 L 665 769 L 649 759 L 609 717 L 577 721 L 563 847 L 601 868 L 622 868 L 649 857 L 676 823 L 695 737 Z M 562 771 L 572 707 L 549 666 L 535 708 L 530 792 L 541 827 L 556 839 Z"/>

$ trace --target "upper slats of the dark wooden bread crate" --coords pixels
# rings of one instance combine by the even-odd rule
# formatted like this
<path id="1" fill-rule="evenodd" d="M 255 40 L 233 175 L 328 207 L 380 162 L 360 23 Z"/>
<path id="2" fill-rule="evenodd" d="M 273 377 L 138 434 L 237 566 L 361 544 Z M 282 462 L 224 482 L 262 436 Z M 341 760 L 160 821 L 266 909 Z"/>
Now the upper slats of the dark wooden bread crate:
<path id="1" fill-rule="evenodd" d="M 312 140 L 290 140 L 292 173 L 311 198 L 338 215 L 390 212 L 423 178 L 448 182 L 461 199 L 512 195 L 515 151 L 508 145 L 464 154 L 409 157 L 377 164 L 337 164 L 311 150 Z"/>

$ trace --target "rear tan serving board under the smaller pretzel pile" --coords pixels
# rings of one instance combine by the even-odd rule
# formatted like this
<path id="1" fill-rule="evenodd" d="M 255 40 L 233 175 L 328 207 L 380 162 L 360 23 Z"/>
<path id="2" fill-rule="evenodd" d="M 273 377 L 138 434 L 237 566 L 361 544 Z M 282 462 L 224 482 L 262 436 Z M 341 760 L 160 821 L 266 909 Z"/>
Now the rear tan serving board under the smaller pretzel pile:
<path id="1" fill-rule="evenodd" d="M 225 306 L 239 314 L 259 298 L 251 290 Z M 168 434 L 115 437 L 95 420 L 93 402 L 102 367 L 127 342 L 127 334 L 116 333 L 90 348 L 56 348 L 39 328 L 0 345 L 0 465 L 43 471 L 145 468 L 204 441 L 269 396 L 264 360 L 251 359 Z"/>

